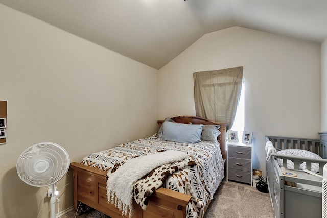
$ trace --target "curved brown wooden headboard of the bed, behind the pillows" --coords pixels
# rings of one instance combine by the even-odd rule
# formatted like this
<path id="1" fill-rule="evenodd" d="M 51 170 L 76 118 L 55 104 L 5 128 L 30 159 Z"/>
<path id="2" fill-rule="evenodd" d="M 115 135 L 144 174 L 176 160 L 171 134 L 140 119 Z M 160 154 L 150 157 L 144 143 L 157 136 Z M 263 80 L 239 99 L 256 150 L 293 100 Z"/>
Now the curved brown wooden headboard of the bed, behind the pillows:
<path id="1" fill-rule="evenodd" d="M 176 116 L 176 117 L 170 117 L 172 120 L 174 120 L 176 123 L 183 123 L 183 124 L 212 124 L 212 125 L 219 125 L 220 129 L 219 131 L 221 134 L 218 136 L 218 142 L 220 144 L 220 150 L 221 154 L 223 156 L 223 159 L 226 160 L 226 125 L 225 122 L 213 122 L 211 120 L 197 117 L 197 116 Z M 164 123 L 164 120 L 158 120 L 159 127 L 161 127 L 162 123 Z"/>

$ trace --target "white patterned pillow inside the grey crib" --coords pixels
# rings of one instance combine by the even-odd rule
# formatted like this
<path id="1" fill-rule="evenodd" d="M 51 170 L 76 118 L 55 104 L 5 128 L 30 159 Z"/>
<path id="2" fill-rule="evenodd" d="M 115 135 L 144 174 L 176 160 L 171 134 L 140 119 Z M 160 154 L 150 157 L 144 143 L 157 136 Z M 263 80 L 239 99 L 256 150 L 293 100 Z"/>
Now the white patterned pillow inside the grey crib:
<path id="1" fill-rule="evenodd" d="M 281 151 L 278 151 L 277 154 L 285 154 L 285 155 L 291 155 L 291 156 L 298 156 L 298 157 L 310 157 L 310 158 L 316 158 L 316 159 L 322 159 L 319 155 L 302 149 L 284 149 Z M 278 158 L 278 165 L 283 166 L 283 159 Z M 287 168 L 294 169 L 294 163 L 291 160 L 287 160 Z M 300 164 L 299 169 L 307 169 L 306 162 L 303 162 Z M 311 163 L 311 171 L 314 173 L 319 172 L 319 164 L 318 163 Z"/>

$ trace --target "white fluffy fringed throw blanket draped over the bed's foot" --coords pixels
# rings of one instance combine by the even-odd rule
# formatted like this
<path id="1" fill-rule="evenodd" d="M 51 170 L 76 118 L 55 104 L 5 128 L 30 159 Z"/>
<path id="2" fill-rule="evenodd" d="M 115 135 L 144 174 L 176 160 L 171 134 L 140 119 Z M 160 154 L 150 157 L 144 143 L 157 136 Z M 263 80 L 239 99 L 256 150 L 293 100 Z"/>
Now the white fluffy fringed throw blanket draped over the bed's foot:
<path id="1" fill-rule="evenodd" d="M 156 167 L 180 161 L 187 155 L 184 152 L 167 150 L 154 154 L 128 159 L 115 165 L 107 173 L 108 202 L 114 204 L 123 215 L 133 212 L 133 188 L 138 179 L 150 173 Z"/>

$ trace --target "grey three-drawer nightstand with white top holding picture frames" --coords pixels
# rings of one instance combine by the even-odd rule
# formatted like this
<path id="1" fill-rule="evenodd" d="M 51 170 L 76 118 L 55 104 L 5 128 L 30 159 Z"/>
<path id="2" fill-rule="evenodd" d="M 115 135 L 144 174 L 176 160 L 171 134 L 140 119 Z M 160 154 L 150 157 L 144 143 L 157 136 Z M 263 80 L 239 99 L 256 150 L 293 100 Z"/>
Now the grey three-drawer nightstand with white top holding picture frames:
<path id="1" fill-rule="evenodd" d="M 252 186 L 252 144 L 227 142 L 227 180 Z"/>

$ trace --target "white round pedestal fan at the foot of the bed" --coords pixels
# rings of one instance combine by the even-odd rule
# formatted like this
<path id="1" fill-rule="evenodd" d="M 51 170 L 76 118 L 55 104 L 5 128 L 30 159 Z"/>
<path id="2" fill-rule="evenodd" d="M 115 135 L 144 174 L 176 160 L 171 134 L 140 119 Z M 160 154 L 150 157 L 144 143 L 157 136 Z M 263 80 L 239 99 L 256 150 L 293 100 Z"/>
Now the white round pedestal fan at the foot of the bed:
<path id="1" fill-rule="evenodd" d="M 55 218 L 56 202 L 55 183 L 69 169 L 69 156 L 58 144 L 42 142 L 26 149 L 18 158 L 17 173 L 22 181 L 35 186 L 51 185 L 51 217 Z"/>

